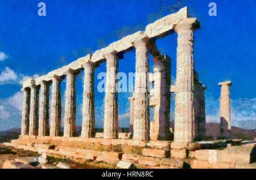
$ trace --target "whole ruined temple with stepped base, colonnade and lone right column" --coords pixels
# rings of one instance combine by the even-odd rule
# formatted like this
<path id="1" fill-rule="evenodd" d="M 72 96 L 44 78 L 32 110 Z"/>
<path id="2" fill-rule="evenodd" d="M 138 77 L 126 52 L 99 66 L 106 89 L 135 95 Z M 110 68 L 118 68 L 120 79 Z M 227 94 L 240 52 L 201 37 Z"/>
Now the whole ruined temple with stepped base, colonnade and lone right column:
<path id="1" fill-rule="evenodd" d="M 209 164 L 209 149 L 201 141 L 205 136 L 206 87 L 199 81 L 194 70 L 193 33 L 200 25 L 196 18 L 189 18 L 187 7 L 170 14 L 152 24 L 145 31 L 123 37 L 106 48 L 97 50 L 73 61 L 67 66 L 51 71 L 36 79 L 23 82 L 22 132 L 19 139 L 12 140 L 17 148 L 30 151 L 44 149 L 72 158 L 84 158 L 105 162 L 128 161 L 150 168 L 182 168 L 184 160 L 191 158 L 192 168 L 215 167 Z M 176 81 L 171 85 L 171 59 L 160 54 L 155 40 L 177 33 Z M 123 54 L 135 50 L 135 83 L 130 101 L 129 136 L 122 136 L 118 127 L 118 60 Z M 154 73 L 148 74 L 148 55 L 152 54 Z M 97 135 L 94 123 L 94 70 L 106 62 L 104 132 Z M 82 130 L 76 134 L 76 76 L 84 70 L 82 100 Z M 61 109 L 60 83 L 66 79 L 65 108 Z M 149 84 L 154 83 L 152 89 Z M 49 86 L 51 100 L 49 100 Z M 221 85 L 221 121 L 223 135 L 230 133 L 229 86 Z M 39 100 L 40 91 L 40 100 Z M 174 139 L 170 137 L 170 101 L 175 93 Z M 49 104 L 51 102 L 51 104 Z M 150 122 L 150 107 L 154 107 L 154 121 Z M 50 112 L 49 113 L 49 109 Z M 61 118 L 64 112 L 64 118 Z M 61 121 L 64 134 L 61 135 Z M 93 148 L 96 144 L 100 148 Z M 203 144 L 203 145 L 202 145 Z M 106 149 L 104 145 L 110 145 Z M 121 149 L 118 145 L 122 145 Z M 219 145 L 219 144 L 217 144 Z M 118 148 L 113 150 L 113 147 Z M 127 146 L 129 148 L 127 148 Z M 209 146 L 209 145 L 208 145 Z M 150 148 L 148 148 L 150 147 Z M 105 149 L 104 149 L 105 148 Z M 201 149 L 202 148 L 202 149 Z M 248 156 L 241 164 L 250 161 Z M 193 151 L 191 151 L 193 150 Z M 195 151 L 195 152 L 194 152 Z M 207 152 L 205 152 L 207 151 Z M 210 151 L 210 150 L 209 150 Z M 205 156 L 201 156 L 201 155 Z M 229 157 L 229 150 L 220 155 Z M 228 162 L 220 157 L 221 165 L 233 167 L 240 156 L 232 156 Z M 248 159 L 249 157 L 249 159 Z M 175 161 L 174 161 L 175 160 Z M 218 160 L 219 161 L 219 160 Z M 203 164 L 202 164 L 203 163 Z M 238 164 L 240 165 L 240 164 Z M 221 166 L 217 166 L 221 168 Z"/>

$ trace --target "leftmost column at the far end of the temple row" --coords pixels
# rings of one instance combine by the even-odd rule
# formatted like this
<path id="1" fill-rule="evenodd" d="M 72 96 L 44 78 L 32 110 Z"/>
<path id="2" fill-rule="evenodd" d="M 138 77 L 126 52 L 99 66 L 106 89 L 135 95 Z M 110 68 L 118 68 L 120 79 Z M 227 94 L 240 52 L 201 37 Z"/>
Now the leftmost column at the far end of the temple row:
<path id="1" fill-rule="evenodd" d="M 30 122 L 30 90 L 23 88 L 21 135 L 28 135 Z"/>

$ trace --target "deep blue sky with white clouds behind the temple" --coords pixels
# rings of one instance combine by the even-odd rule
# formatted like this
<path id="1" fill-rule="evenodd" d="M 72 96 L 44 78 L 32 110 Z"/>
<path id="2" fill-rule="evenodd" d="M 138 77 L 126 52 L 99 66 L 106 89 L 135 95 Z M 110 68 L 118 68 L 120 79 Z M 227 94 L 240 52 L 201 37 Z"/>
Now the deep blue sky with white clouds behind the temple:
<path id="1" fill-rule="evenodd" d="M 38 16 L 38 3 L 46 16 Z M 209 2 L 217 16 L 209 16 Z M 201 28 L 195 32 L 195 69 L 208 88 L 208 122 L 218 122 L 220 87 L 231 80 L 232 125 L 256 128 L 256 2 L 248 1 L 0 1 L 0 131 L 19 127 L 21 80 L 38 77 L 137 31 L 187 6 Z M 175 78 L 176 33 L 156 41 L 172 59 Z M 150 60 L 152 68 L 152 61 Z M 119 71 L 135 71 L 135 52 L 119 61 Z M 102 63 L 95 72 L 106 72 Z M 65 89 L 65 82 L 61 85 Z M 63 91 L 64 95 L 64 91 Z M 82 74 L 77 77 L 77 125 L 81 124 Z M 102 127 L 104 93 L 96 88 L 96 126 Z M 129 125 L 129 93 L 119 93 L 119 125 Z"/>

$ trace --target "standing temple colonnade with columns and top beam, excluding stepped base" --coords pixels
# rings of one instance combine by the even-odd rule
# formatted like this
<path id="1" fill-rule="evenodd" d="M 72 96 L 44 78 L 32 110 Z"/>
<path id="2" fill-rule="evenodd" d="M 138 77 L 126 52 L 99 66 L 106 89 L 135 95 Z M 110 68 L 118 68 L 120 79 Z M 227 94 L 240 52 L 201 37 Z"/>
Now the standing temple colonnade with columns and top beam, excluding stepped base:
<path id="1" fill-rule="evenodd" d="M 199 27 L 196 18 L 189 18 L 187 7 L 149 24 L 146 31 L 123 37 L 108 47 L 77 59 L 47 75 L 23 82 L 22 136 L 60 136 L 61 111 L 64 110 L 64 136 L 76 135 L 76 75 L 84 69 L 81 138 L 93 138 L 94 131 L 94 69 L 106 61 L 104 139 L 118 139 L 117 80 L 118 59 L 136 50 L 135 84 L 131 101 L 133 140 L 168 140 L 170 95 L 175 97 L 174 142 L 193 142 L 205 131 L 204 86 L 193 68 L 193 32 Z M 158 52 L 157 38 L 177 33 L 176 85 L 170 86 L 170 58 Z M 154 74 L 148 77 L 148 52 L 153 55 Z M 65 109 L 61 110 L 60 81 L 67 79 Z M 149 91 L 147 79 L 154 82 Z M 52 100 L 49 105 L 49 85 Z M 40 89 L 40 102 L 39 102 Z M 154 122 L 149 121 L 149 106 L 155 107 Z M 49 108 L 51 114 L 49 115 Z M 203 119 L 202 119 L 203 118 Z M 51 122 L 51 126 L 49 126 Z M 151 133 L 150 133 L 151 132 Z"/>

